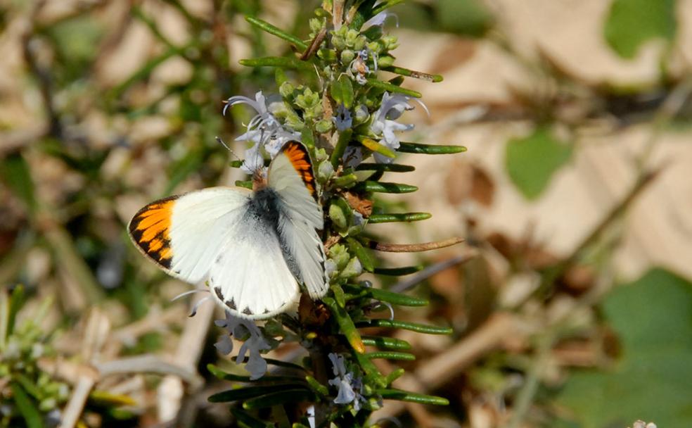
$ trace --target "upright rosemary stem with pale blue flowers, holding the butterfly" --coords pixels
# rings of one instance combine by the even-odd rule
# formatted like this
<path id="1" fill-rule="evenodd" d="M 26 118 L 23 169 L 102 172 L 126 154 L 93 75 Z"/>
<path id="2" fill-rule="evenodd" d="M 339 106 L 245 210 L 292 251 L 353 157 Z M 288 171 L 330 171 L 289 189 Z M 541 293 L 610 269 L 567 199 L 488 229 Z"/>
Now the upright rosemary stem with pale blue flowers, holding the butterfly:
<path id="1" fill-rule="evenodd" d="M 406 341 L 387 336 L 366 336 L 364 327 L 393 327 L 427 334 L 450 334 L 451 329 L 418 325 L 377 316 L 392 306 L 424 306 L 427 301 L 376 289 L 359 280 L 363 272 L 405 275 L 416 267 L 376 267 L 376 251 L 421 251 L 444 244 L 393 245 L 367 237 L 366 225 L 381 222 L 411 222 L 430 218 L 428 213 L 373 213 L 373 194 L 416 191 L 409 184 L 381 182 L 385 172 L 407 172 L 414 168 L 394 163 L 397 153 L 459 153 L 462 146 L 428 146 L 399 141 L 397 132 L 413 125 L 399 122 L 416 105 L 421 94 L 402 87 L 404 77 L 440 82 L 442 77 L 394 65 L 392 49 L 397 39 L 383 31 L 399 0 L 324 0 L 309 20 L 309 42 L 304 42 L 271 25 L 248 16 L 260 30 L 290 43 L 295 55 L 242 60 L 251 67 L 276 68 L 278 94 L 258 92 L 255 99 L 233 96 L 224 113 L 238 104 L 257 111 L 248 130 L 238 141 L 252 145 L 245 160 L 232 165 L 250 172 L 257 162 L 271 158 L 286 141 L 300 140 L 309 149 L 320 184 L 319 197 L 325 214 L 323 241 L 328 254 L 326 269 L 331 289 L 321 301 L 303 298 L 297 317 L 282 314 L 255 325 L 230 315 L 217 325 L 228 330 L 217 343 L 230 353 L 232 334 L 244 340 L 237 361 L 245 362 L 250 376 L 208 368 L 220 379 L 249 382 L 210 397 L 212 402 L 238 401 L 232 412 L 247 427 L 365 427 L 374 410 L 387 400 L 446 405 L 436 396 L 414 394 L 392 388 L 404 370 L 383 373 L 376 358 L 413 360 Z M 378 72 L 396 76 L 380 79 Z M 425 106 L 418 101 L 425 108 Z M 251 182 L 237 182 L 251 187 Z M 393 314 L 392 310 L 392 314 Z M 295 341 L 309 356 L 300 364 L 262 358 L 262 353 L 279 344 Z M 366 346 L 378 348 L 368 352 Z M 248 354 L 246 358 L 245 355 Z M 266 374 L 267 366 L 276 373 Z M 268 422 L 271 420 L 271 422 Z"/>

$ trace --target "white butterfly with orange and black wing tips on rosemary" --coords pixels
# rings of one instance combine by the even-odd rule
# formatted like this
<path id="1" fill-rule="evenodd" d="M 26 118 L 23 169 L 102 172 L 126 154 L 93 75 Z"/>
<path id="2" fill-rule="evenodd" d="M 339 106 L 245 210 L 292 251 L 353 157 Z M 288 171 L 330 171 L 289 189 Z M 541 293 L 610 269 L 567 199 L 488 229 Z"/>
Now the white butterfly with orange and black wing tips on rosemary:
<path id="1" fill-rule="evenodd" d="M 129 223 L 135 246 L 169 275 L 205 281 L 238 317 L 281 313 L 329 287 L 322 208 L 309 153 L 288 141 L 252 176 L 253 189 L 210 187 L 149 203 Z"/>

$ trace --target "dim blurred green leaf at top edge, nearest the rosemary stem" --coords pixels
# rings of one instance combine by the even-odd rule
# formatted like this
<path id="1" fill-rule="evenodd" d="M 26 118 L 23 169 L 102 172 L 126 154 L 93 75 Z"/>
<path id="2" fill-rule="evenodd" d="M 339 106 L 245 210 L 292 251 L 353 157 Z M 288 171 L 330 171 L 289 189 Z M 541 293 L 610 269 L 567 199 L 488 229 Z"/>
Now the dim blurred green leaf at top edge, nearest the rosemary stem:
<path id="1" fill-rule="evenodd" d="M 492 27 L 493 17 L 478 0 L 439 0 L 437 25 L 440 29 L 480 37 Z"/>

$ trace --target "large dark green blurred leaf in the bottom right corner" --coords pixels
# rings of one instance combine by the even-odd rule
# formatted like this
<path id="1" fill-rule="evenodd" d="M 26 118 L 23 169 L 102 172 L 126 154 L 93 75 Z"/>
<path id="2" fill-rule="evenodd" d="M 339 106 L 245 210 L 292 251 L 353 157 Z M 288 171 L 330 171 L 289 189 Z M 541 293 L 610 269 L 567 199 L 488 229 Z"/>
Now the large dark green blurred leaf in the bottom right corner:
<path id="1" fill-rule="evenodd" d="M 641 419 L 659 427 L 691 427 L 692 284 L 651 270 L 617 287 L 603 302 L 619 334 L 613 370 L 573 374 L 558 398 L 584 428 L 627 427 Z"/>

